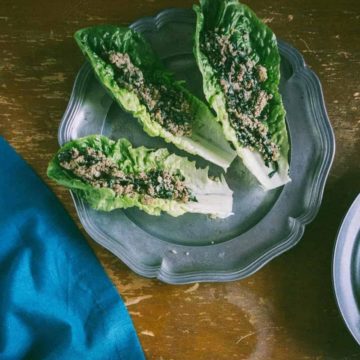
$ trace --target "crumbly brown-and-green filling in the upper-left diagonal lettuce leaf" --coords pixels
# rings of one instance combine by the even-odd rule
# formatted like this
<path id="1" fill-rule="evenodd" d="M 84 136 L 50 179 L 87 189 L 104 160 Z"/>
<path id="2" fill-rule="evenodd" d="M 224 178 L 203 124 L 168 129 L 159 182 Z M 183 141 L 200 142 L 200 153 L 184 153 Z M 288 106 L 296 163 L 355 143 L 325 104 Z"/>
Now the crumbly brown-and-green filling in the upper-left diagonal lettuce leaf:
<path id="1" fill-rule="evenodd" d="M 113 64 L 116 82 L 138 96 L 153 120 L 173 135 L 191 135 L 194 115 L 183 92 L 150 73 L 145 74 L 128 54 L 110 52 L 108 59 Z"/>

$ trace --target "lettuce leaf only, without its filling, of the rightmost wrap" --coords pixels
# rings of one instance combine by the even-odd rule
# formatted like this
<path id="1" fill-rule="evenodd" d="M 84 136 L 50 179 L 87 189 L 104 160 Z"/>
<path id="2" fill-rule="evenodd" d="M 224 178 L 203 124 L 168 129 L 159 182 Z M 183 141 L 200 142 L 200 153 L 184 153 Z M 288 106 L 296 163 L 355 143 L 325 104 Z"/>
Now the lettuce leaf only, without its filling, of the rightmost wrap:
<path id="1" fill-rule="evenodd" d="M 237 0 L 200 0 L 194 6 L 197 16 L 194 54 L 203 76 L 203 89 L 209 105 L 215 110 L 222 124 L 225 137 L 231 142 L 245 166 L 255 175 L 265 189 L 272 189 L 290 181 L 289 140 L 285 123 L 285 109 L 279 93 L 280 56 L 276 37 L 256 15 Z M 208 56 L 202 50 L 205 32 L 221 29 L 231 39 L 233 46 L 241 49 L 244 59 L 266 68 L 267 79 L 259 86 L 271 94 L 266 125 L 271 141 L 276 144 L 279 158 L 276 163 L 266 164 L 260 152 L 243 146 L 229 121 L 226 96 Z M 239 61 L 236 58 L 236 61 Z M 243 61 L 243 60 L 242 60 Z"/>

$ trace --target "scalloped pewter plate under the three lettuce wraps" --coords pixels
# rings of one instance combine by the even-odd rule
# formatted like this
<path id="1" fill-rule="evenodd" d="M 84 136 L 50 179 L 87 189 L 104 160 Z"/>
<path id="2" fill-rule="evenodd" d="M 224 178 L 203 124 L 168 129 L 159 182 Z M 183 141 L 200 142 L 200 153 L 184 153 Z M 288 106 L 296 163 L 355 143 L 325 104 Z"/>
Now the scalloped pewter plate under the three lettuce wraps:
<path id="1" fill-rule="evenodd" d="M 199 97 L 201 75 L 192 54 L 195 16 L 191 10 L 165 10 L 131 27 L 151 42 L 166 66 Z M 110 213 L 92 210 L 73 195 L 88 234 L 136 273 L 180 284 L 228 281 L 249 276 L 294 246 L 316 215 L 334 156 L 334 136 L 321 86 L 297 50 L 279 42 L 280 90 L 291 140 L 290 176 L 285 187 L 265 192 L 235 160 L 226 174 L 234 191 L 234 215 L 213 220 L 204 215 L 150 216 L 135 208 Z M 135 146 L 167 147 L 195 159 L 210 172 L 221 169 L 189 156 L 160 138 L 147 136 L 96 80 L 89 64 L 81 68 L 59 129 L 59 143 L 90 134 L 128 138 Z"/>

